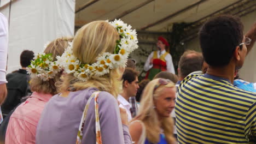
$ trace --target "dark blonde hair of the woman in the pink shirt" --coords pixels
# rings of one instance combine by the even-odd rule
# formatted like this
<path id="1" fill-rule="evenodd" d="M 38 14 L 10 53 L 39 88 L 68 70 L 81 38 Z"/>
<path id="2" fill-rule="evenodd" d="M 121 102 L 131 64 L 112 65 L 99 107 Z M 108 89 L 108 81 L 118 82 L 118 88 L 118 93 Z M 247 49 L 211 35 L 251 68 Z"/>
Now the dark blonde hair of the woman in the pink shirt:
<path id="1" fill-rule="evenodd" d="M 73 38 L 58 38 L 54 41 L 51 41 L 50 44 L 44 50 L 44 53 L 52 53 L 54 61 L 56 61 L 56 56 L 61 56 L 62 53 L 68 46 L 68 42 L 71 42 Z M 62 73 L 62 72 L 61 72 Z M 61 73 L 56 74 L 53 79 L 49 79 L 48 81 L 43 81 L 40 78 L 33 78 L 30 81 L 31 91 L 39 92 L 39 93 L 46 93 L 46 94 L 57 94 L 57 88 L 55 83 L 60 81 Z"/>

